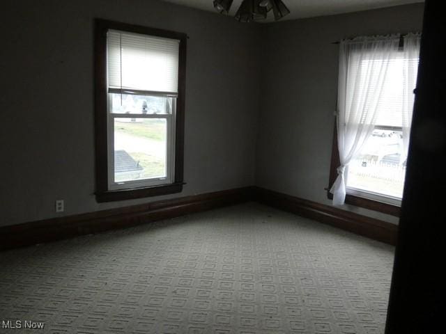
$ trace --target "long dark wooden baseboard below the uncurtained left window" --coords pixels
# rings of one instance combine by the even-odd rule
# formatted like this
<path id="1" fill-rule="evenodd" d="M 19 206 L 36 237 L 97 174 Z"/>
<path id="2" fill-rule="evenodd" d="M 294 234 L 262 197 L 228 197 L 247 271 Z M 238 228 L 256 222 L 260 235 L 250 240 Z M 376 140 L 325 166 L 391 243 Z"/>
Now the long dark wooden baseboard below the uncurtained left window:
<path id="1" fill-rule="evenodd" d="M 0 250 L 174 218 L 252 200 L 253 187 L 203 193 L 144 205 L 32 221 L 0 228 Z"/>

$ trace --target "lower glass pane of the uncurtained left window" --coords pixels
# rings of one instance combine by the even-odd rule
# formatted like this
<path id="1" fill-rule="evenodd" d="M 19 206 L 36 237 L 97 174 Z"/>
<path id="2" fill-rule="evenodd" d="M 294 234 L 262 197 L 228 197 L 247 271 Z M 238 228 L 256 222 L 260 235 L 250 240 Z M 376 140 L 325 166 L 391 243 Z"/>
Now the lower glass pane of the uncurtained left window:
<path id="1" fill-rule="evenodd" d="M 167 120 L 115 118 L 114 181 L 167 177 Z"/>

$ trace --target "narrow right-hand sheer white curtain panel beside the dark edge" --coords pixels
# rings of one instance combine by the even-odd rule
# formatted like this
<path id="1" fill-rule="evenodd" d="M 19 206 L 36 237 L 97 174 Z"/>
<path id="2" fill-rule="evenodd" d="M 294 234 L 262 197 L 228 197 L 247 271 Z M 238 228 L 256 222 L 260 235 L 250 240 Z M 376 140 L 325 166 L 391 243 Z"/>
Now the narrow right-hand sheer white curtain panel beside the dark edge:
<path id="1" fill-rule="evenodd" d="M 420 58 L 421 33 L 408 33 L 404 36 L 403 48 L 403 154 L 401 161 L 407 159 L 412 124 L 413 90 L 417 84 L 418 60 Z"/>

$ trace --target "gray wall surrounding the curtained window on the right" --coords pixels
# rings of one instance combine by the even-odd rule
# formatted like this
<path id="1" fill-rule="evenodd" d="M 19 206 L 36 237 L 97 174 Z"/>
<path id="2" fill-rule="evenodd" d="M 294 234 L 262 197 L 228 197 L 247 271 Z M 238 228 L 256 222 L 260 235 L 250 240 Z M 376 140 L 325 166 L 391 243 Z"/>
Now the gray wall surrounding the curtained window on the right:
<path id="1" fill-rule="evenodd" d="M 263 26 L 256 184 L 330 205 L 328 186 L 338 47 L 357 35 L 422 29 L 423 4 Z M 344 205 L 392 223 L 397 218 Z"/>

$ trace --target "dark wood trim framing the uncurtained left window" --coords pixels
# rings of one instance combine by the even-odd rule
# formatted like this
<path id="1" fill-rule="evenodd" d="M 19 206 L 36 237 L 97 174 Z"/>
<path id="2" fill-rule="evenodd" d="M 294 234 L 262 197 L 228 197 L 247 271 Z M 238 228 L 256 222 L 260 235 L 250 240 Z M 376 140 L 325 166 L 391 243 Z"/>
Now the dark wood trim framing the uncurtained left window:
<path id="1" fill-rule="evenodd" d="M 174 182 L 136 189 L 109 190 L 107 162 L 107 31 L 129 31 L 180 40 L 178 64 L 178 97 L 176 100 L 176 141 Z M 105 19 L 95 19 L 95 196 L 98 202 L 160 196 L 183 191 L 184 120 L 187 35 L 175 31 L 135 26 Z"/>

